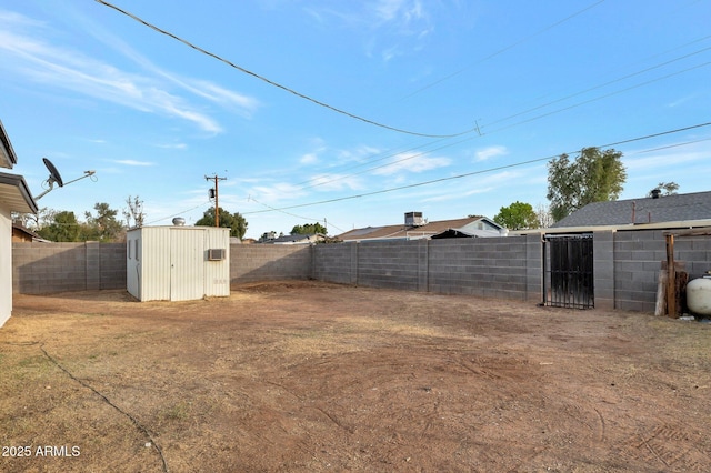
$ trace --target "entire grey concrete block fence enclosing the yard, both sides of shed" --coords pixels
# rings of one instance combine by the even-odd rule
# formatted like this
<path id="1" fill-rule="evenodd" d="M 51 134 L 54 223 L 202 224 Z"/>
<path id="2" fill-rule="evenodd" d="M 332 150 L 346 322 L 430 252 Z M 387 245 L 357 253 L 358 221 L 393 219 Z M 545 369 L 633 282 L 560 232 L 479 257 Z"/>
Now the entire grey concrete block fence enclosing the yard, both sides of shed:
<path id="1" fill-rule="evenodd" d="M 653 312 L 667 258 L 662 231 L 593 234 L 594 301 L 601 309 Z M 13 243 L 13 292 L 126 288 L 123 243 Z M 541 302 L 540 234 L 491 239 L 317 245 L 233 244 L 232 284 L 314 279 L 403 291 Z M 711 270 L 711 238 L 678 238 L 690 278 Z"/>

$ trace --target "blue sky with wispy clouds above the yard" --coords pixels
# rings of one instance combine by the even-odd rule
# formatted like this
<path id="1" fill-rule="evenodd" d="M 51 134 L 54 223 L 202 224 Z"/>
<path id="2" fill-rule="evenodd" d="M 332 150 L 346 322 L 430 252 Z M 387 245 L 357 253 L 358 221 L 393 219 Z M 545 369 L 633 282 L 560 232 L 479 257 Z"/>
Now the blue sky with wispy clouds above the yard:
<path id="1" fill-rule="evenodd" d="M 11 172 L 96 170 L 38 202 L 81 219 L 138 195 L 193 223 L 216 174 L 252 238 L 493 218 L 548 203 L 545 158 L 711 122 L 709 0 L 111 3 L 233 66 L 93 0 L 0 0 Z M 711 190 L 711 127 L 613 148 L 622 199 Z"/>

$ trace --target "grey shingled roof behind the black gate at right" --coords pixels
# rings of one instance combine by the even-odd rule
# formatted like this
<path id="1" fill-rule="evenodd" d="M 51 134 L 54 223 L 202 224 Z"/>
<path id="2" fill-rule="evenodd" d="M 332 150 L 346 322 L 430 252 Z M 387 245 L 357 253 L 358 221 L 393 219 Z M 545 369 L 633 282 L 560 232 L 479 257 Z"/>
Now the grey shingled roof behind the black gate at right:
<path id="1" fill-rule="evenodd" d="M 551 228 L 637 225 L 711 220 L 711 192 L 594 202 Z"/>

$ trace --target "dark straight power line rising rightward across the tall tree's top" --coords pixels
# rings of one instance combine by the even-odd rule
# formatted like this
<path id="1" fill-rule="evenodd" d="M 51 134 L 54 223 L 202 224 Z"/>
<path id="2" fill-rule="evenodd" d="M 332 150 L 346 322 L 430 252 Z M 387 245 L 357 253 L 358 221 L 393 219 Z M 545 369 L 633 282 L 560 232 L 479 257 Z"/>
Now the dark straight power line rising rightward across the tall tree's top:
<path id="1" fill-rule="evenodd" d="M 694 124 L 694 125 L 690 125 L 690 127 L 678 128 L 678 129 L 674 129 L 674 130 L 662 131 L 662 132 L 659 132 L 659 133 L 647 134 L 647 135 L 643 135 L 643 137 L 631 138 L 629 140 L 617 141 L 614 143 L 599 144 L 599 145 L 593 147 L 593 148 L 610 148 L 610 147 L 615 147 L 615 145 L 619 145 L 619 144 L 627 144 L 627 143 L 632 143 L 632 142 L 635 142 L 635 141 L 649 140 L 651 138 L 659 138 L 659 137 L 663 137 L 663 135 L 667 135 L 667 134 L 679 133 L 679 132 L 682 132 L 682 131 L 689 131 L 689 130 L 693 130 L 693 129 L 697 129 L 697 128 L 709 127 L 709 125 L 711 125 L 711 122 L 699 123 L 699 124 Z M 560 153 L 560 154 L 575 153 L 578 151 L 579 150 L 568 151 L 568 152 Z M 360 198 L 369 197 L 369 195 L 378 195 L 378 194 L 383 194 L 383 193 L 388 193 L 388 192 L 401 191 L 401 190 L 404 190 L 404 189 L 419 188 L 419 187 L 422 187 L 422 185 L 434 184 L 434 183 L 438 183 L 438 182 L 452 181 L 454 179 L 469 178 L 471 175 L 483 174 L 483 173 L 487 173 L 487 172 L 501 171 L 503 169 L 517 168 L 517 167 L 520 167 L 520 165 L 527 165 L 527 164 L 533 164 L 533 163 L 537 163 L 537 162 L 549 161 L 551 159 L 558 158 L 560 154 L 554 154 L 554 155 L 550 155 L 550 157 L 545 157 L 545 158 L 537 158 L 537 159 L 527 160 L 527 161 L 520 161 L 520 162 L 515 162 L 515 163 L 512 163 L 512 164 L 499 165 L 499 167 L 495 167 L 495 168 L 489 168 L 489 169 L 483 169 L 483 170 L 479 170 L 479 171 L 467 172 L 467 173 L 458 174 L 458 175 L 450 175 L 448 178 L 432 179 L 430 181 L 417 182 L 417 183 L 413 183 L 413 184 L 400 185 L 400 187 L 397 187 L 397 188 L 382 189 L 380 191 L 367 192 L 367 193 L 357 194 L 357 195 L 348 195 L 348 197 L 329 199 L 329 200 L 323 200 L 323 201 L 318 201 L 318 202 L 310 202 L 310 203 L 302 203 L 302 204 L 297 204 L 297 205 L 282 207 L 280 209 L 274 209 L 274 210 L 276 211 L 282 211 L 282 210 L 288 210 L 288 209 L 298 209 L 298 208 L 302 208 L 302 207 L 320 205 L 320 204 L 323 204 L 323 203 L 340 202 L 340 201 L 350 200 L 350 199 L 360 199 Z M 264 213 L 264 212 L 270 212 L 270 210 L 258 210 L 258 211 L 252 211 L 252 212 L 244 212 L 244 214 Z"/>

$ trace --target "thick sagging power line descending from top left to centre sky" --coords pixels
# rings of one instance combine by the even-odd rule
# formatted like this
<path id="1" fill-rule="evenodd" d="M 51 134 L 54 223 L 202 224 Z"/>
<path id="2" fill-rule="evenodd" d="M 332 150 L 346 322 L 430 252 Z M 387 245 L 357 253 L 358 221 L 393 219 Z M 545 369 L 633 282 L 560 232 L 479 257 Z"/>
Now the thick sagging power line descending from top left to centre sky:
<path id="1" fill-rule="evenodd" d="M 161 28 L 158 28 L 157 26 L 154 26 L 152 23 L 149 23 L 148 21 L 137 17 L 136 14 L 130 13 L 130 12 L 128 12 L 126 10 L 122 10 L 119 7 L 117 7 L 114 4 L 111 4 L 111 3 L 109 3 L 109 2 L 107 2 L 104 0 L 94 0 L 94 1 L 97 3 L 101 3 L 101 4 L 106 6 L 106 7 L 109 7 L 109 8 L 113 9 L 113 10 L 118 11 L 119 13 L 122 13 L 122 14 L 129 17 L 129 18 L 138 21 L 139 23 L 144 24 L 146 27 L 148 27 L 148 28 L 150 28 L 150 29 L 152 29 L 152 30 L 154 30 L 154 31 L 157 31 L 157 32 L 159 32 L 161 34 L 164 34 L 164 36 L 167 36 L 169 38 L 172 38 L 176 41 L 179 41 L 179 42 L 181 42 L 181 43 L 194 49 L 198 52 L 201 52 L 201 53 L 203 53 L 206 56 L 209 56 L 210 58 L 217 59 L 218 61 L 223 62 L 227 66 L 229 66 L 229 67 L 231 67 L 233 69 L 237 69 L 240 72 L 243 72 L 243 73 L 246 73 L 248 76 L 257 78 L 257 79 L 259 79 L 259 80 L 261 80 L 263 82 L 267 82 L 268 84 L 273 85 L 273 87 L 276 87 L 278 89 L 281 89 L 283 91 L 292 93 L 292 94 L 299 97 L 300 99 L 308 100 L 308 101 L 310 101 L 312 103 L 316 103 L 317 105 L 323 107 L 326 109 L 329 109 L 329 110 L 331 110 L 333 112 L 343 114 L 346 117 L 349 117 L 349 118 L 352 118 L 352 119 L 356 119 L 356 120 L 360 120 L 360 121 L 365 122 L 368 124 L 372 124 L 374 127 L 383 128 L 383 129 L 390 130 L 390 131 L 397 131 L 399 133 L 412 134 L 412 135 L 415 135 L 415 137 L 425 137 L 425 138 L 454 138 L 454 137 L 461 137 L 463 134 L 471 133 L 471 132 L 477 130 L 477 127 L 473 127 L 473 128 L 470 128 L 468 130 L 460 131 L 460 132 L 457 132 L 457 133 L 451 133 L 451 134 L 420 133 L 420 132 L 415 132 L 415 131 L 409 131 L 409 130 L 404 130 L 404 129 L 401 129 L 401 128 L 391 127 L 391 125 L 388 125 L 388 124 L 384 124 L 384 123 L 377 122 L 374 120 L 370 120 L 370 119 L 363 118 L 361 115 L 358 115 L 358 114 L 348 112 L 346 110 L 339 109 L 337 107 L 330 105 L 330 104 L 328 104 L 326 102 L 317 100 L 317 99 L 314 99 L 312 97 L 309 97 L 309 95 L 307 95 L 304 93 L 298 92 L 298 91 L 296 91 L 296 90 L 293 90 L 293 89 L 291 89 L 291 88 L 289 88 L 287 85 L 282 85 L 282 84 L 280 84 L 278 82 L 274 82 L 273 80 L 270 80 L 270 79 L 268 79 L 268 78 L 266 78 L 263 76 L 260 76 L 260 74 L 258 74 L 256 72 L 252 72 L 252 71 L 250 71 L 248 69 L 244 69 L 244 68 L 242 68 L 242 67 L 240 67 L 240 66 L 238 66 L 238 64 L 236 64 L 236 63 L 233 63 L 233 62 L 231 62 L 231 61 L 229 61 L 229 60 L 227 60 L 227 59 L 224 59 L 224 58 L 222 58 L 222 57 L 220 57 L 220 56 L 218 56 L 218 54 L 216 54 L 213 52 L 210 52 L 210 51 L 208 51 L 208 50 L 206 50 L 203 48 L 200 48 L 199 46 L 196 46 L 196 44 L 191 43 L 190 41 L 187 41 L 187 40 L 176 36 L 176 34 L 171 33 L 170 31 L 167 31 L 167 30 L 163 30 Z"/>

